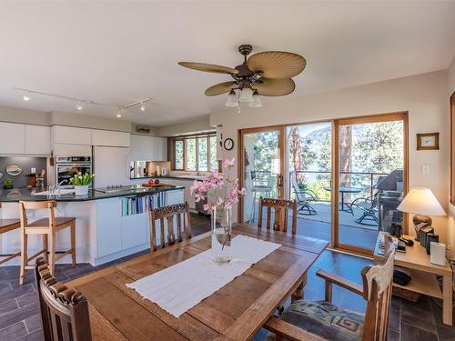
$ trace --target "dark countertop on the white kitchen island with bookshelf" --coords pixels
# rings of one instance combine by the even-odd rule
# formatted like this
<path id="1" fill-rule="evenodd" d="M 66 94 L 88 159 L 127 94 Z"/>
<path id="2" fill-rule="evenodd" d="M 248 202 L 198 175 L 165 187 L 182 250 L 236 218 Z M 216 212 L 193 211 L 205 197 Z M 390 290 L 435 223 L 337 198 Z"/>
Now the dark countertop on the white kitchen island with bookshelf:
<path id="1" fill-rule="evenodd" d="M 24 201 L 45 201 L 45 200 L 56 200 L 62 202 L 76 202 L 76 201 L 90 201 L 106 199 L 109 197 L 117 196 L 146 196 L 148 194 L 155 194 L 160 192 L 173 191 L 178 189 L 184 189 L 183 186 L 171 186 L 161 185 L 154 187 L 136 187 L 134 189 L 123 189 L 116 192 L 103 193 L 96 189 L 90 189 L 88 196 L 75 196 L 75 195 L 62 195 L 62 196 L 48 196 L 48 195 L 36 195 L 40 192 L 45 192 L 45 189 L 29 189 L 29 188 L 15 188 L 15 189 L 0 189 L 0 202 L 18 202 L 19 200 Z"/>

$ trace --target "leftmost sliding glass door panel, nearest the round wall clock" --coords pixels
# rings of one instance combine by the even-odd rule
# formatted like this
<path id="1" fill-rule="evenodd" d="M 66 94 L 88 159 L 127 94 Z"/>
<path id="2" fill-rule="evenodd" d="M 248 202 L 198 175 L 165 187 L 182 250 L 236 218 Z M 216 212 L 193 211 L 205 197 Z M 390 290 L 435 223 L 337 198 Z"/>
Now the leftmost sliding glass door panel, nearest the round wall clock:
<path id="1" fill-rule="evenodd" d="M 240 132 L 241 185 L 248 192 L 240 202 L 242 222 L 258 223 L 260 196 L 284 196 L 283 139 L 283 126 L 245 129 Z"/>

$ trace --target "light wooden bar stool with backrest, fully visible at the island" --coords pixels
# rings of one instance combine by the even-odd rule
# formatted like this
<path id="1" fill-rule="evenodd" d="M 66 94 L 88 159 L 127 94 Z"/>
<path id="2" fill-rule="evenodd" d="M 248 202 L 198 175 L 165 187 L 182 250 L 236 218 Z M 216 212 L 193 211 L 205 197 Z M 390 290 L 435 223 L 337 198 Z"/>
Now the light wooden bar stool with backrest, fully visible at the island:
<path id="1" fill-rule="evenodd" d="M 54 276 L 56 261 L 63 256 L 71 254 L 73 266 L 76 266 L 76 218 L 75 217 L 56 217 L 54 208 L 56 201 L 19 201 L 21 210 L 21 274 L 19 284 L 24 284 L 25 269 L 33 269 L 34 266 L 29 266 L 28 262 L 41 254 L 44 255 L 45 261 L 49 263 L 49 270 Z M 47 209 L 49 212 L 48 218 L 36 220 L 33 223 L 28 223 L 26 210 Z M 67 251 L 56 251 L 56 233 L 69 227 L 71 229 L 71 248 Z M 43 249 L 35 253 L 35 255 L 27 256 L 28 235 L 43 235 Z M 56 254 L 59 254 L 56 256 Z"/>

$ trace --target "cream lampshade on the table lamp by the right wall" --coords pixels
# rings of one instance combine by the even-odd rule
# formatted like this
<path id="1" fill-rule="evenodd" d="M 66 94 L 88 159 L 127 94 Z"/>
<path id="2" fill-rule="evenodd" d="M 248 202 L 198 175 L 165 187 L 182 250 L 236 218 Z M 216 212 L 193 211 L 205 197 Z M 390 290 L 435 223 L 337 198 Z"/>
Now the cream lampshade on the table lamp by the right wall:
<path id="1" fill-rule="evenodd" d="M 414 187 L 404 197 L 397 209 L 401 212 L 424 216 L 446 216 L 440 202 L 430 188 Z"/>

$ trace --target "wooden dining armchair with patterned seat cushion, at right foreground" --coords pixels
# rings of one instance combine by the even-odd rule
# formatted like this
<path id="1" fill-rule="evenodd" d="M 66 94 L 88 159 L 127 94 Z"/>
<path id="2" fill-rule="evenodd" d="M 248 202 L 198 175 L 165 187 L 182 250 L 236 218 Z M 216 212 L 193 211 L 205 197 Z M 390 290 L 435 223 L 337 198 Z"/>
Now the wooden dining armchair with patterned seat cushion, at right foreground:
<path id="1" fill-rule="evenodd" d="M 298 300 L 278 317 L 268 319 L 265 327 L 277 340 L 361 340 L 385 341 L 389 327 L 395 247 L 386 236 L 386 256 L 362 272 L 363 286 L 319 270 L 326 280 L 324 301 Z M 365 315 L 333 306 L 332 286 L 341 286 L 367 301 Z M 269 337 L 273 339 L 273 337 Z"/>

